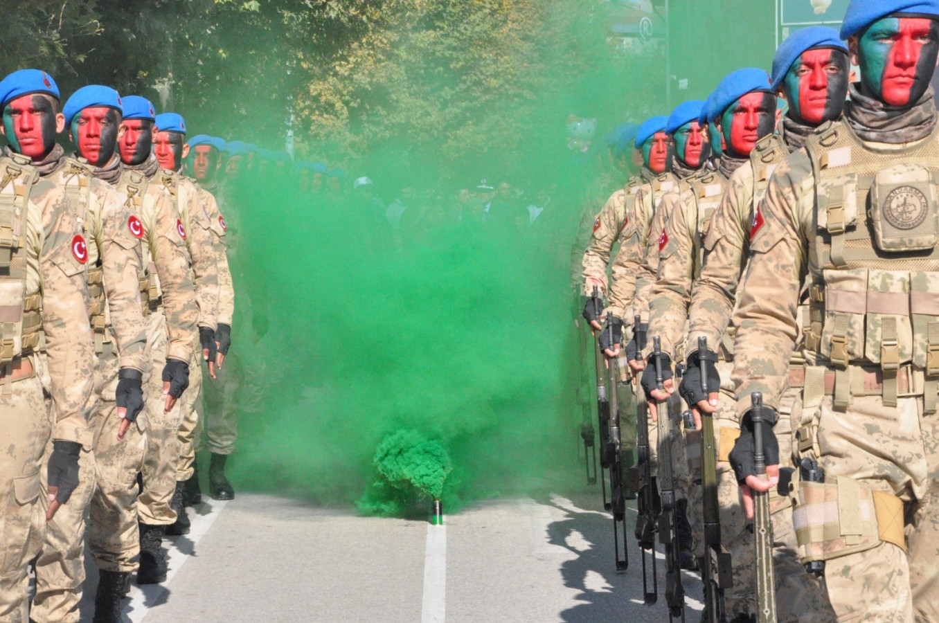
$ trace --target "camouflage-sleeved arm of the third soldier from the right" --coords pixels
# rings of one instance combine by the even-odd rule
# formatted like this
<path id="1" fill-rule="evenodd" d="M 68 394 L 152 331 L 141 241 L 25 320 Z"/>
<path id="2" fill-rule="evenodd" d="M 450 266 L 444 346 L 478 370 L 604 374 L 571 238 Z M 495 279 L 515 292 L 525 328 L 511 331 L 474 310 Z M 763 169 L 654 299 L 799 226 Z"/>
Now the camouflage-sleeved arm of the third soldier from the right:
<path id="1" fill-rule="evenodd" d="M 694 276 L 694 232 L 685 222 L 685 200 L 670 194 L 662 199 L 664 234 L 659 235 L 656 279 L 649 300 L 649 335 L 659 336 L 662 351 L 672 360 L 682 341 Z"/>

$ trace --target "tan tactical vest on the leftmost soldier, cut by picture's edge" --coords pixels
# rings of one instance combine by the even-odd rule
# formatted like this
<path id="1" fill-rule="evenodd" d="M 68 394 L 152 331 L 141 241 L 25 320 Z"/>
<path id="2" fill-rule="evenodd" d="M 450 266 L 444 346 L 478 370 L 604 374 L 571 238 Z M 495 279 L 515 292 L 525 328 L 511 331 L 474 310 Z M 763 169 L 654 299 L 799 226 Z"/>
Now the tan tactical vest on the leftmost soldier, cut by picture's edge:
<path id="1" fill-rule="evenodd" d="M 26 292 L 26 213 L 38 178 L 29 159 L 0 160 L 0 365 L 31 354 L 42 337 L 41 293 Z"/>

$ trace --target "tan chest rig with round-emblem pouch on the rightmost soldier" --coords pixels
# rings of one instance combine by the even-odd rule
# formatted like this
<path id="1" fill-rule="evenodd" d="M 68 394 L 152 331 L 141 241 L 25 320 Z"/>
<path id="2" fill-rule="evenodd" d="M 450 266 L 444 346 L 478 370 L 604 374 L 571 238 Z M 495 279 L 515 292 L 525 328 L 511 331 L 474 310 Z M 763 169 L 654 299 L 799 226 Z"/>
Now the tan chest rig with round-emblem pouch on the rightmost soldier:
<path id="1" fill-rule="evenodd" d="M 835 403 L 863 395 L 849 367 L 883 378 L 884 403 L 939 392 L 939 132 L 904 151 L 870 151 L 843 123 L 809 137 L 806 347 L 836 370 Z M 870 392 L 868 392 L 870 393 Z"/>

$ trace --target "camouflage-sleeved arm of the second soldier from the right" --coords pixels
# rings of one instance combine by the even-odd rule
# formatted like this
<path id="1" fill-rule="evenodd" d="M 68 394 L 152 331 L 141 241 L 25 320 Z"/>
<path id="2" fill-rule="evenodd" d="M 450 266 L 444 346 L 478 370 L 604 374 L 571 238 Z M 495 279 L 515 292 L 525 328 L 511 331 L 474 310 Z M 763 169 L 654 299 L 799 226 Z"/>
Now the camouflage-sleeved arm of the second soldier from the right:
<path id="1" fill-rule="evenodd" d="M 700 337 L 707 338 L 709 348 L 716 351 L 731 322 L 737 286 L 747 263 L 744 248 L 751 219 L 747 171 L 750 169 L 745 165 L 731 176 L 704 238 L 704 266 L 692 288 L 688 311 L 686 354 L 698 350 Z"/>

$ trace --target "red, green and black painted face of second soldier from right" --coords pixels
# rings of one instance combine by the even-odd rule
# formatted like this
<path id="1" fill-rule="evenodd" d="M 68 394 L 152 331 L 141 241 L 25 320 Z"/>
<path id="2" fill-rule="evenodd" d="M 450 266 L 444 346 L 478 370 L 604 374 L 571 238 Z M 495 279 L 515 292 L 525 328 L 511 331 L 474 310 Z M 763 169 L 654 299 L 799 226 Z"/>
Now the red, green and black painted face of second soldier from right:
<path id="1" fill-rule="evenodd" d="M 782 82 L 789 115 L 818 126 L 837 119 L 848 96 L 848 55 L 831 48 L 807 50 Z"/>

